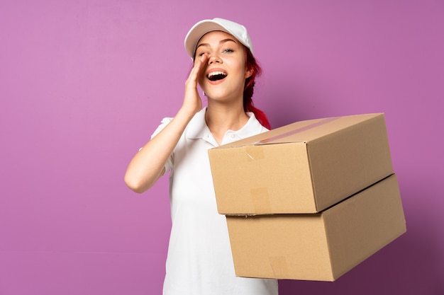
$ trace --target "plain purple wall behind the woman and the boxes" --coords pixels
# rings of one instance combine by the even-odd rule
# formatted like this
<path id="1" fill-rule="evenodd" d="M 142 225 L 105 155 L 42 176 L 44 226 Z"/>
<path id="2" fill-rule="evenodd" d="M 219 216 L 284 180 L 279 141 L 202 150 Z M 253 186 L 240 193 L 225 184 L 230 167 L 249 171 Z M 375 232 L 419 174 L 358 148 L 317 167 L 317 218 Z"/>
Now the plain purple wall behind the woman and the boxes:
<path id="1" fill-rule="evenodd" d="M 444 1 L 2 0 L 0 294 L 160 294 L 167 178 L 128 161 L 182 103 L 196 21 L 244 23 L 273 127 L 385 112 L 407 233 L 284 294 L 444 294 Z"/>

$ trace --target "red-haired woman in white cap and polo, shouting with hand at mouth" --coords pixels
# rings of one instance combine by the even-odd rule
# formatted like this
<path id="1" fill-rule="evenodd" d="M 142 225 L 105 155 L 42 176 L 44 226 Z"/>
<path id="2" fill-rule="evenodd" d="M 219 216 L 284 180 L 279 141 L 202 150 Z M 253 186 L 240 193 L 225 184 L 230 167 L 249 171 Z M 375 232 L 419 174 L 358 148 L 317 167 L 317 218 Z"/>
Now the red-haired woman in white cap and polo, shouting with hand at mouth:
<path id="1" fill-rule="evenodd" d="M 125 175 L 131 190 L 145 192 L 170 171 L 172 231 L 163 294 L 276 295 L 275 279 L 235 277 L 207 154 L 215 146 L 270 129 L 267 117 L 252 105 L 260 66 L 250 37 L 243 25 L 214 18 L 189 30 L 185 48 L 194 66 L 182 107 L 174 118 L 162 120 Z M 208 100 L 206 108 L 198 83 Z"/>

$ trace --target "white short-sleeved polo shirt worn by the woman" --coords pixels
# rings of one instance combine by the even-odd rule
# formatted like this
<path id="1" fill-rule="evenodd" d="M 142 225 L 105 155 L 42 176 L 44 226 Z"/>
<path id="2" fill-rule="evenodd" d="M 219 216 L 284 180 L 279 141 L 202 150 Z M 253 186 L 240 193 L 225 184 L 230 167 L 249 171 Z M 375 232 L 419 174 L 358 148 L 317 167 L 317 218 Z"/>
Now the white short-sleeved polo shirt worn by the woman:
<path id="1" fill-rule="evenodd" d="M 277 295 L 275 279 L 235 277 L 226 217 L 218 214 L 208 149 L 218 146 L 198 112 L 179 139 L 165 169 L 170 173 L 172 231 L 164 295 Z M 252 112 L 222 144 L 267 131 Z M 165 118 L 152 136 L 172 118 Z"/>

